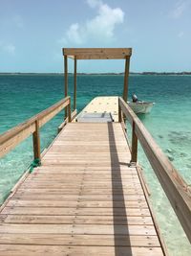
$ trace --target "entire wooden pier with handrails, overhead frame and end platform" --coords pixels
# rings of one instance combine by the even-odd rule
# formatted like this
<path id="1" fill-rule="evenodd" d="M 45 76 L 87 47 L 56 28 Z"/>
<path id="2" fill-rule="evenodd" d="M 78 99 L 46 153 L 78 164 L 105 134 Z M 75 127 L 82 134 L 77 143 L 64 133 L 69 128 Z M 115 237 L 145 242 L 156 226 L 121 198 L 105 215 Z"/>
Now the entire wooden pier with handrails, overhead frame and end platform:
<path id="1" fill-rule="evenodd" d="M 191 241 L 191 190 L 126 103 L 131 49 L 65 49 L 65 98 L 0 135 L 0 156 L 32 135 L 34 161 L 0 208 L 0 256 L 167 256 L 138 166 L 138 141 Z M 74 109 L 67 58 L 74 55 Z M 76 116 L 76 59 L 124 58 L 123 99 Z M 40 128 L 65 119 L 47 151 Z M 128 141 L 125 120 L 132 126 Z"/>

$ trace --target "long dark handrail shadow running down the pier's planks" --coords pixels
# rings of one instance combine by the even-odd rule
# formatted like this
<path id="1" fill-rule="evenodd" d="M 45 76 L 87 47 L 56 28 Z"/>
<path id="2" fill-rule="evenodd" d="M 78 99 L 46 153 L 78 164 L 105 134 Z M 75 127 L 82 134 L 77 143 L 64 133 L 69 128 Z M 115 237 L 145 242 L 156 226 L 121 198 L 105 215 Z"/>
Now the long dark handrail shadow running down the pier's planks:
<path id="1" fill-rule="evenodd" d="M 108 123 L 109 146 L 111 155 L 111 175 L 112 175 L 112 196 L 113 196 L 113 215 L 114 215 L 114 240 L 115 255 L 133 255 L 131 249 L 128 220 L 125 208 L 125 198 L 123 194 L 122 177 L 120 172 L 120 163 L 117 155 L 117 145 L 112 123 Z M 117 183 L 116 183 L 117 181 Z M 120 211 L 120 213 L 119 213 Z M 118 225 L 118 215 L 122 222 Z M 120 229 L 122 227 L 122 234 Z M 122 236 L 122 237 L 121 237 Z M 122 239 L 122 242 L 121 242 Z"/>

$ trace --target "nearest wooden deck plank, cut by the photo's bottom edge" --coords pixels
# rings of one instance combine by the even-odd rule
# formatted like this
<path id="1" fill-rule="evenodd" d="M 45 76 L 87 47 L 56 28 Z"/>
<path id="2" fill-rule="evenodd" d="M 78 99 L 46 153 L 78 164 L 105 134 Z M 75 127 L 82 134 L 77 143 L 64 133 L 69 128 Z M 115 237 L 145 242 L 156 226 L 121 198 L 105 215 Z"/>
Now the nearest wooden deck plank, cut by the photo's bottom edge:
<path id="1" fill-rule="evenodd" d="M 159 247 L 127 247 L 127 246 L 62 246 L 62 245 L 22 245 L 1 244 L 0 255 L 12 256 L 161 256 Z"/>

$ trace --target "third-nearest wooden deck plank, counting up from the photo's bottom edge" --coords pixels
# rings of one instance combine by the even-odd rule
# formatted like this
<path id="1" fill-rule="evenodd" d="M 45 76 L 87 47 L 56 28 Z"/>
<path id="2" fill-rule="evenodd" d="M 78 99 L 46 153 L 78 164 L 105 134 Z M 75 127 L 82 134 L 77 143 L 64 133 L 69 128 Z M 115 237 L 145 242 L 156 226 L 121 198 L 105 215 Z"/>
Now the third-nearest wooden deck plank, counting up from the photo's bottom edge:
<path id="1" fill-rule="evenodd" d="M 0 223 L 0 234 L 96 234 L 96 235 L 149 235 L 155 236 L 152 225 L 100 225 L 100 224 L 14 224 Z"/>

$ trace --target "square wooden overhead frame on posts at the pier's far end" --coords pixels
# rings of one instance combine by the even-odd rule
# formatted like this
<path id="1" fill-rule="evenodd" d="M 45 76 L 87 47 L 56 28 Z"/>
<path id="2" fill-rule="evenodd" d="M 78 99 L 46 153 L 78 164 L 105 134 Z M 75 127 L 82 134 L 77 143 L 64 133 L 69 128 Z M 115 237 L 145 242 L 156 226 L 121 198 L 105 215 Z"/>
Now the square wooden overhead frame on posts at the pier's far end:
<path id="1" fill-rule="evenodd" d="M 68 58 L 74 59 L 74 110 L 76 108 L 76 69 L 77 59 L 125 59 L 123 99 L 128 98 L 128 77 L 132 48 L 63 48 L 65 97 L 68 96 Z"/>

